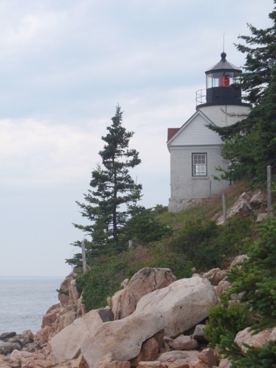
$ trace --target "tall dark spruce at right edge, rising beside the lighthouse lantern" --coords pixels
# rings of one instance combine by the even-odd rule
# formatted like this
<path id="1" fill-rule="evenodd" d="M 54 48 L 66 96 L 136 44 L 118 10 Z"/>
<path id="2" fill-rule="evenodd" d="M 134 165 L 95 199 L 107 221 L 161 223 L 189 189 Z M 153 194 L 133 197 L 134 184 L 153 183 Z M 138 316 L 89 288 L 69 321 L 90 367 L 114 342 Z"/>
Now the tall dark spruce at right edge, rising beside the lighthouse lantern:
<path id="1" fill-rule="evenodd" d="M 276 0 L 274 0 L 276 3 Z M 244 176 L 251 184 L 266 180 L 266 166 L 276 168 L 276 10 L 270 12 L 273 26 L 265 30 L 248 25 L 251 36 L 240 36 L 246 44 L 237 49 L 246 54 L 241 78 L 242 90 L 253 104 L 248 117 L 227 126 L 209 126 L 219 133 L 224 144 L 221 155 L 229 162 L 221 178 L 238 180 Z"/>

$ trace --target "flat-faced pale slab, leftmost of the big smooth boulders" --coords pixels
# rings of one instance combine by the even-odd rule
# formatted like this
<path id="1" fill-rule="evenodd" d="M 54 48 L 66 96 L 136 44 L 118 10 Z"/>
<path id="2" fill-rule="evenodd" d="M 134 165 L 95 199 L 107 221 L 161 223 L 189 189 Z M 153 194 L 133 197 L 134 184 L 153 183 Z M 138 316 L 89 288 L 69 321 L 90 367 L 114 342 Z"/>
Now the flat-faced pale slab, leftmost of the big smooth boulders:
<path id="1" fill-rule="evenodd" d="M 86 313 L 50 340 L 55 358 L 66 358 L 70 360 L 79 356 L 83 341 L 95 333 L 98 327 L 103 325 L 103 320 L 100 316 L 101 312 L 99 311 L 101 309 Z"/>

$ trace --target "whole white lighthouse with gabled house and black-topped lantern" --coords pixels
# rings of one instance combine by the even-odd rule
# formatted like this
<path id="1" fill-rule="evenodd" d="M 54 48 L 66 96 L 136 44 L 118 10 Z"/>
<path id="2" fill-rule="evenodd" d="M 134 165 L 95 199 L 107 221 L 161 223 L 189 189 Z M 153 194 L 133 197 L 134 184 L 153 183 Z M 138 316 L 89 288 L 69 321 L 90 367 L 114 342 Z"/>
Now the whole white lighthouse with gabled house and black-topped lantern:
<path id="1" fill-rule="evenodd" d="M 219 193 L 228 181 L 215 180 L 216 168 L 227 168 L 220 155 L 221 139 L 207 124 L 228 126 L 248 114 L 250 104 L 242 101 L 242 90 L 231 88 L 242 70 L 221 60 L 206 70 L 206 89 L 196 93 L 196 111 L 180 128 L 168 128 L 170 152 L 170 199 L 168 210 L 178 212 Z"/>

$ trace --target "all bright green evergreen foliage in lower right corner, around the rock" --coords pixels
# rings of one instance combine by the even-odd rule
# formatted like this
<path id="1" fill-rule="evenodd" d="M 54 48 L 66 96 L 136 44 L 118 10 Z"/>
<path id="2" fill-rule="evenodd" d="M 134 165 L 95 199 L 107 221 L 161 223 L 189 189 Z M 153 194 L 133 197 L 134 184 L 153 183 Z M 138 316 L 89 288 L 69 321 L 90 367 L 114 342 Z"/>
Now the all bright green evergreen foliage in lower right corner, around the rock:
<path id="1" fill-rule="evenodd" d="M 248 258 L 236 264 L 226 274 L 232 283 L 227 295 L 242 293 L 241 304 L 253 325 L 253 333 L 273 328 L 276 325 L 276 218 L 270 214 L 264 224 L 257 226 L 259 240 L 247 243 L 244 249 Z M 231 367 L 276 367 L 276 341 L 268 341 L 263 347 L 246 346 L 240 349 L 234 342 L 235 334 L 230 330 L 220 336 L 220 352 L 228 358 Z"/>

